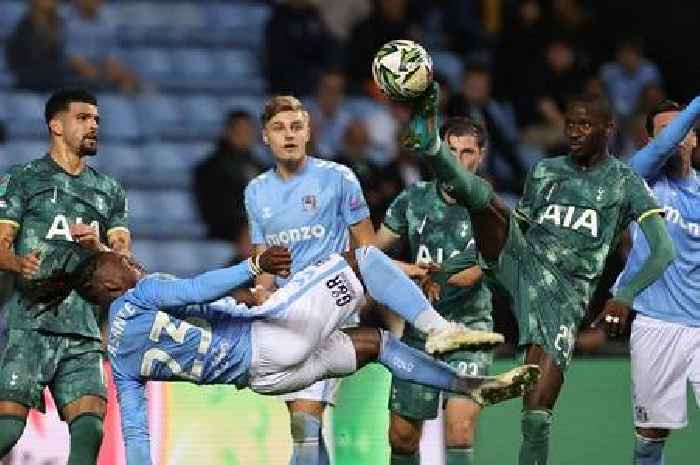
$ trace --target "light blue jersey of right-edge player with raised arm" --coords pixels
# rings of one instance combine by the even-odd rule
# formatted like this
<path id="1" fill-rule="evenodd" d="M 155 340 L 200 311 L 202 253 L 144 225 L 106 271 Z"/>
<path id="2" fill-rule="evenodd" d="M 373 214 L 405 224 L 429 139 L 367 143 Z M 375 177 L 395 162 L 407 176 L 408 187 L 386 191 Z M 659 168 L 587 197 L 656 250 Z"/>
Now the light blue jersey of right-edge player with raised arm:
<path id="1" fill-rule="evenodd" d="M 633 308 L 651 318 L 695 327 L 700 327 L 700 178 L 694 170 L 688 178 L 670 178 L 663 166 L 699 115 L 700 98 L 695 98 L 630 160 L 663 207 L 676 249 L 676 259 L 658 281 L 637 295 Z M 649 256 L 641 228 L 634 224 L 631 233 L 633 247 L 614 291 L 627 284 Z"/>

